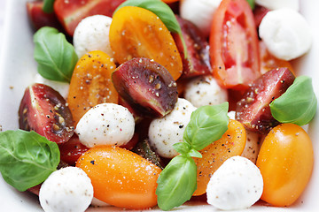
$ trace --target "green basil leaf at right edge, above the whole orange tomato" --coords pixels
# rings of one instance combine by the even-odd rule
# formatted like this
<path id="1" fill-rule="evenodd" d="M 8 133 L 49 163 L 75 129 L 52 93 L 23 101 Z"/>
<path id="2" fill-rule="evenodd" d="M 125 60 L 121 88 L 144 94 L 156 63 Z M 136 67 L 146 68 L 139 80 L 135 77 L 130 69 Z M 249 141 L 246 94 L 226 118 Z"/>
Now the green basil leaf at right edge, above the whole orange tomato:
<path id="1" fill-rule="evenodd" d="M 315 117 L 316 107 L 312 79 L 307 76 L 297 77 L 283 95 L 270 103 L 271 114 L 277 121 L 296 125 L 307 125 Z"/>

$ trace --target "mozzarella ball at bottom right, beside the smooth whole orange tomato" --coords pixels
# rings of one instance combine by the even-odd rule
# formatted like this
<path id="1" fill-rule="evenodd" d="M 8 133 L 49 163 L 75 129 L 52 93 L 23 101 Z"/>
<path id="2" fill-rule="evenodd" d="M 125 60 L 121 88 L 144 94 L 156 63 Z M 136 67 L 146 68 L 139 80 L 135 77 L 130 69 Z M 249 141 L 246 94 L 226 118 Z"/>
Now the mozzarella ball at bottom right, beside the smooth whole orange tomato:
<path id="1" fill-rule="evenodd" d="M 261 198 L 262 190 L 258 167 L 245 157 L 233 156 L 210 178 L 207 202 L 223 210 L 249 208 Z"/>

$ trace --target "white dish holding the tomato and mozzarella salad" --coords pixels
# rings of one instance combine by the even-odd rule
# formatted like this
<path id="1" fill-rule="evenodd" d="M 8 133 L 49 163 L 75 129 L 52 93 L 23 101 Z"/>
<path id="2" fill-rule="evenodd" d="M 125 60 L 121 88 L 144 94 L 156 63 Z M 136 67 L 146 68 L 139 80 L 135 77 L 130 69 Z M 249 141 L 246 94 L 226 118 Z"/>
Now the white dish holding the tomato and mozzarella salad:
<path id="1" fill-rule="evenodd" d="M 10 0 L 7 2 L 4 25 L 4 41 L 0 56 L 0 126 L 3 131 L 18 129 L 19 102 L 25 88 L 33 82 L 36 64 L 33 58 L 33 31 L 27 19 L 27 0 Z M 313 30 L 314 42 L 306 56 L 293 61 L 299 75 L 313 78 L 315 94 L 319 97 L 319 1 L 300 1 L 300 12 L 306 17 Z M 318 110 L 319 111 L 319 110 Z M 300 199 L 289 208 L 275 208 L 254 205 L 243 211 L 318 211 L 319 210 L 319 118 L 318 113 L 308 127 L 315 150 L 315 167 L 306 191 Z M 19 193 L 8 186 L 0 178 L 0 210 L 35 212 L 43 211 L 38 199 L 31 193 Z M 89 211 L 113 211 L 120 208 L 89 208 Z M 159 209 L 155 209 L 159 210 Z M 212 211 L 213 207 L 192 203 L 183 205 L 177 210 L 182 211 Z"/>

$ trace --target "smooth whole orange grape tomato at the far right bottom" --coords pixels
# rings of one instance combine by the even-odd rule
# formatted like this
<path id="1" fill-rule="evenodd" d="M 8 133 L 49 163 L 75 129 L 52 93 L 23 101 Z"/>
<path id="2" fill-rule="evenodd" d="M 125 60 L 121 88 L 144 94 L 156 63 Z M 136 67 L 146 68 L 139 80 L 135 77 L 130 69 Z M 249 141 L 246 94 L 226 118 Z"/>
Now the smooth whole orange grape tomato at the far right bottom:
<path id="1" fill-rule="evenodd" d="M 256 165 L 264 181 L 261 200 L 279 207 L 292 205 L 313 170 L 312 142 L 299 125 L 277 125 L 263 141 Z"/>

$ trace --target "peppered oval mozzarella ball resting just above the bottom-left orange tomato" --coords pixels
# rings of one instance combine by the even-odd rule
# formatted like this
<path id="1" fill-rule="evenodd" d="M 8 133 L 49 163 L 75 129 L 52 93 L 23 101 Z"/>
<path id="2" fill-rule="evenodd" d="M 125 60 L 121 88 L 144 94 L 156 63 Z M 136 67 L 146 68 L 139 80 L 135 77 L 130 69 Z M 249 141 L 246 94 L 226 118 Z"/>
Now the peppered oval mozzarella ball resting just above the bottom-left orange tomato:
<path id="1" fill-rule="evenodd" d="M 83 145 L 93 148 L 127 144 L 134 130 L 134 117 L 127 108 L 114 103 L 101 103 L 84 114 L 75 132 Z"/>

